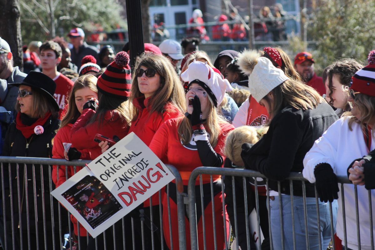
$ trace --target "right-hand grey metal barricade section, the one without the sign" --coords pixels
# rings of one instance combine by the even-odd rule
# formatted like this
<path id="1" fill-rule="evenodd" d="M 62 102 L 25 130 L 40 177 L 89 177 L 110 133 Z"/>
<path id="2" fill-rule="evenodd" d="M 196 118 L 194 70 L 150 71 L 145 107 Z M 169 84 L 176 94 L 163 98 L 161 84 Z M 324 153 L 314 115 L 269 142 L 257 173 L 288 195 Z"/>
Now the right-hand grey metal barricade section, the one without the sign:
<path id="1" fill-rule="evenodd" d="M 205 179 L 207 179 L 207 175 L 210 176 L 210 184 L 211 184 L 211 193 L 212 193 L 212 183 L 213 183 L 213 178 L 212 176 L 213 175 L 221 175 L 221 186 L 222 186 L 222 193 L 224 193 L 224 178 L 229 178 L 229 180 L 226 180 L 226 184 L 228 184 L 228 181 L 229 181 L 229 184 L 231 183 L 231 193 L 230 195 L 233 195 L 233 212 L 234 212 L 234 222 L 231 221 L 231 227 L 233 227 L 234 229 L 234 238 L 237 240 L 237 243 L 238 243 L 238 240 L 239 240 L 239 231 L 238 231 L 238 227 L 239 225 L 242 226 L 242 230 L 245 230 L 246 229 L 246 232 L 243 232 L 243 235 L 246 235 L 246 241 L 245 241 L 245 244 L 242 248 L 242 250 L 244 250 L 244 248 L 246 249 L 253 249 L 251 248 L 252 247 L 257 247 L 257 249 L 261 249 L 261 244 L 262 244 L 262 241 L 264 240 L 264 238 L 260 238 L 261 236 L 258 235 L 259 239 L 258 240 L 255 240 L 256 243 L 254 243 L 254 239 L 252 238 L 252 233 L 253 232 L 250 232 L 249 230 L 249 213 L 251 211 L 248 211 L 248 197 L 249 197 L 249 192 L 250 190 L 246 187 L 246 183 L 248 183 L 249 181 L 249 178 L 253 178 L 253 184 L 254 184 L 254 193 L 255 193 L 255 205 L 254 205 L 254 208 L 255 210 L 257 211 L 257 215 L 256 215 L 256 224 L 257 224 L 257 232 L 260 232 L 261 231 L 261 223 L 260 223 L 260 195 L 258 193 L 258 181 L 257 178 L 264 178 L 265 182 L 266 182 L 266 193 L 267 193 L 267 196 L 264 197 L 266 198 L 266 210 L 267 211 L 264 211 L 265 213 L 267 213 L 267 217 L 268 217 L 268 233 L 269 234 L 269 241 L 270 241 L 270 249 L 285 249 L 285 242 L 284 242 L 284 237 L 281 237 L 281 244 L 279 242 L 278 245 L 275 245 L 273 244 L 273 239 L 272 239 L 272 230 L 275 230 L 275 232 L 278 232 L 278 230 L 280 231 L 280 234 L 281 235 L 285 235 L 284 233 L 284 229 L 285 229 L 285 225 L 284 223 L 288 223 L 288 222 L 283 222 L 283 205 L 282 204 L 282 198 L 275 198 L 275 197 L 288 197 L 286 195 L 282 195 L 282 191 L 281 191 L 281 183 L 280 181 L 278 182 L 278 195 L 279 196 L 270 196 L 270 189 L 269 189 L 269 180 L 262 174 L 260 174 L 259 172 L 257 171 L 251 171 L 251 170 L 246 170 L 246 169 L 233 169 L 233 168 L 213 168 L 213 167 L 199 167 L 199 168 L 196 168 L 190 175 L 190 178 L 189 178 L 189 184 L 188 184 L 188 198 L 189 198 L 189 217 L 190 217 L 190 220 L 189 220 L 189 223 L 190 223 L 190 243 L 191 243 L 191 249 L 192 250 L 198 250 L 198 245 L 199 245 L 199 249 L 223 249 L 225 248 L 226 250 L 227 249 L 230 249 L 230 235 L 226 235 L 226 232 L 227 232 L 227 228 L 226 228 L 226 223 L 225 223 L 225 220 L 226 218 L 224 217 L 223 220 L 224 220 L 224 228 L 222 228 L 221 230 L 224 231 L 224 235 L 225 235 L 225 245 L 222 247 L 222 246 L 217 246 L 217 244 L 215 242 L 212 242 L 212 240 L 216 241 L 216 238 L 217 238 L 217 235 L 216 235 L 216 232 L 217 232 L 217 229 L 216 230 L 213 230 L 213 234 L 214 234 L 214 237 L 213 239 L 207 239 L 206 238 L 206 234 L 209 230 L 212 230 L 213 228 L 215 228 L 215 226 L 213 225 L 213 228 L 211 225 L 206 225 L 205 224 L 205 220 L 207 220 L 207 218 L 205 218 L 205 214 L 203 213 L 203 205 L 201 207 L 198 207 L 198 205 L 196 205 L 199 201 L 199 197 L 197 197 L 199 195 L 199 193 L 197 193 L 197 189 L 196 189 L 196 185 L 197 185 L 197 178 L 199 178 L 199 186 L 200 186 L 200 189 L 202 191 L 202 175 L 206 175 Z M 243 187 L 243 190 L 236 190 L 235 189 L 235 178 L 237 178 L 236 180 L 239 181 L 241 180 L 242 181 L 242 187 Z M 287 228 L 288 231 L 292 231 L 293 232 L 293 236 L 292 236 L 292 239 L 289 239 L 288 238 L 288 241 L 291 243 L 289 246 L 293 249 L 310 249 L 311 248 L 311 245 L 309 244 L 309 240 L 311 241 L 311 243 L 314 243 L 312 241 L 314 241 L 315 239 L 312 239 L 311 237 L 309 237 L 310 233 L 317 233 L 317 235 L 321 235 L 321 219 L 320 219 L 320 205 L 321 205 L 321 202 L 319 202 L 319 199 L 318 199 L 318 193 L 317 193 L 317 189 L 316 189 L 316 186 L 313 185 L 313 187 L 315 187 L 315 197 L 314 198 L 309 198 L 309 201 L 311 201 L 311 199 L 315 199 L 315 202 L 313 202 L 314 204 L 310 204 L 310 206 L 306 205 L 306 185 L 308 183 L 308 181 L 303 178 L 302 174 L 301 173 L 291 173 L 290 176 L 287 178 L 287 180 L 289 180 L 289 183 L 290 183 L 290 190 L 291 190 L 291 193 L 290 193 L 290 205 L 285 205 L 284 206 L 284 209 L 287 209 L 287 208 L 291 208 L 291 229 L 290 228 Z M 296 185 L 296 182 L 297 183 L 300 183 L 302 185 L 302 197 L 301 196 L 293 196 L 293 185 Z M 368 207 L 369 207 L 369 211 L 370 213 L 368 214 L 368 220 L 369 220 L 369 225 L 370 225 L 370 232 L 360 232 L 360 223 L 359 223 L 359 200 L 358 200 L 358 194 L 357 194 L 357 188 L 359 186 L 357 185 L 353 185 L 350 183 L 350 181 L 348 180 L 348 177 L 347 176 L 338 176 L 338 182 L 339 182 L 339 186 L 341 188 L 341 193 L 339 193 L 339 200 L 338 202 L 341 202 L 339 205 L 342 206 L 342 222 L 343 222 L 343 228 L 341 229 L 343 231 L 343 234 L 344 234 L 344 240 L 342 240 L 342 245 L 343 245 L 343 248 L 345 250 L 348 249 L 348 242 L 347 242 L 347 225 L 346 225 L 346 215 L 345 215 L 345 197 L 344 197 L 344 186 L 345 187 L 350 187 L 350 188 L 354 188 L 354 195 L 355 195 L 355 210 L 356 210 L 356 229 L 353 229 L 353 228 L 350 228 L 348 230 L 350 230 L 350 232 L 352 232 L 352 234 L 355 234 L 353 233 L 353 231 L 355 230 L 357 232 L 357 246 L 358 246 L 358 249 L 361 249 L 361 235 L 362 235 L 362 238 L 363 238 L 363 235 L 365 235 L 365 237 L 369 238 L 370 239 L 370 243 L 371 243 L 371 246 L 367 246 L 367 248 L 369 249 L 372 249 L 374 250 L 374 237 L 373 237 L 373 234 L 374 234 L 374 229 L 372 228 L 372 223 L 373 223 L 373 219 L 372 219 L 372 213 L 374 213 L 374 211 L 372 210 L 373 206 L 372 206 L 372 196 L 374 196 L 375 193 L 372 193 L 371 190 L 368 190 Z M 310 184 L 309 184 L 310 185 Z M 362 189 L 362 187 L 361 187 Z M 243 196 L 240 195 L 240 197 L 238 197 L 238 193 L 239 191 L 242 191 L 243 192 Z M 229 194 L 229 192 L 227 191 L 226 193 L 227 195 Z M 362 194 L 363 194 L 363 190 L 362 190 Z M 237 195 L 237 197 L 236 197 Z M 340 195 L 341 195 L 341 198 L 340 198 Z M 202 200 L 203 197 L 202 197 L 202 192 L 200 193 L 200 199 Z M 311 196 L 310 196 L 311 197 Z M 279 202 L 279 219 L 280 219 L 280 222 L 278 223 L 279 226 L 280 226 L 280 229 L 278 228 L 275 228 L 275 227 L 272 227 L 271 225 L 271 213 L 270 213 L 270 198 L 273 198 L 272 201 L 275 199 L 278 200 Z M 296 215 L 293 208 L 294 208 L 294 203 L 296 202 L 296 198 L 302 198 L 303 200 L 303 210 L 301 211 L 301 214 L 303 214 L 303 216 L 301 214 L 298 214 Z M 237 220 L 237 216 L 238 216 L 238 208 L 236 207 L 236 199 L 243 199 L 244 201 L 244 216 L 245 216 L 245 222 L 243 222 L 242 220 L 241 221 L 238 221 Z M 213 199 L 213 196 L 211 195 L 211 202 L 212 202 L 212 209 L 214 208 L 214 199 Z M 284 201 L 283 201 L 284 202 Z M 289 202 L 287 200 L 287 202 Z M 363 202 L 364 201 L 360 201 L 361 204 L 363 206 Z M 202 204 L 202 202 L 201 202 Z M 207 204 L 207 202 L 206 202 Z M 334 228 L 335 228 L 335 223 L 334 222 L 334 218 L 333 218 L 333 214 L 335 214 L 335 207 L 337 207 L 337 202 L 334 201 L 334 202 L 329 202 L 328 203 L 328 208 L 329 208 L 329 213 L 330 213 L 330 218 L 329 218 L 329 221 L 330 221 L 330 227 L 327 228 L 326 230 L 327 231 L 330 231 L 330 235 L 329 237 L 331 237 L 332 235 L 335 234 L 334 232 Z M 312 208 L 314 208 L 314 210 L 312 210 Z M 202 209 L 202 212 L 199 211 L 200 209 Z M 225 214 L 225 210 L 228 209 L 226 208 L 226 204 L 225 204 L 225 199 L 224 199 L 224 195 L 223 195 L 223 199 L 222 199 L 222 211 L 223 211 L 223 214 Z M 309 211 L 308 211 L 309 209 Z M 313 212 L 312 212 L 313 211 Z M 315 212 L 314 212 L 315 211 Z M 198 213 L 199 212 L 199 213 Z M 200 215 L 200 218 L 197 218 L 197 213 Z M 312 224 L 312 221 L 311 221 L 311 218 L 310 220 L 308 220 L 308 214 L 311 214 L 311 213 L 316 213 L 317 215 L 317 232 L 309 232 L 309 226 L 308 225 L 311 225 Z M 213 210 L 213 213 L 212 213 L 212 221 L 214 222 L 214 216 L 215 216 L 215 213 L 214 213 L 214 210 Z M 285 216 L 285 215 L 284 215 Z M 301 217 L 302 216 L 302 217 Z M 339 215 L 337 215 L 339 217 Z M 365 215 L 367 216 L 367 215 Z M 298 218 L 297 218 L 298 217 Z M 367 217 L 366 217 L 367 218 Z M 202 220 L 202 228 L 201 226 L 199 226 L 198 228 L 198 225 L 197 225 L 197 219 L 198 220 Z M 241 217 L 240 219 L 243 219 L 243 217 Z M 301 246 L 301 245 L 298 245 L 298 243 L 296 242 L 296 228 L 294 226 L 294 221 L 295 219 L 298 219 L 298 220 L 302 220 L 302 223 L 303 225 L 301 226 L 305 232 L 305 242 L 306 242 L 306 246 Z M 339 219 L 339 218 L 338 218 Z M 245 224 L 245 229 L 243 229 L 243 225 Z M 264 223 L 266 224 L 266 223 Z M 263 224 L 263 225 L 264 225 Z M 267 225 L 266 225 L 267 226 Z M 275 225 L 274 225 L 275 226 Z M 267 227 L 266 227 L 267 228 Z M 310 229 L 311 230 L 311 229 Z M 198 231 L 200 232 L 199 236 L 198 236 Z M 242 237 L 243 237 L 242 235 Z M 199 237 L 202 237 L 203 239 L 199 238 Z M 243 240 L 243 239 L 242 239 Z M 275 240 L 275 239 L 274 239 Z M 244 242 L 244 241 L 243 241 Z M 214 243 L 214 244 L 213 244 Z M 316 247 L 314 247 L 314 249 L 327 249 L 328 245 L 327 246 L 324 246 L 323 245 L 323 242 L 321 240 L 321 237 L 318 237 L 318 240 L 316 242 Z M 332 241 L 331 241 L 331 244 L 332 244 L 332 249 L 339 249 L 338 247 L 335 246 L 335 240 L 333 240 L 333 237 L 332 237 Z M 238 249 L 238 244 L 237 246 L 234 246 L 235 248 L 232 248 L 232 249 Z M 237 247 L 237 248 L 236 248 Z M 255 249 L 255 248 L 254 248 Z M 340 248 L 341 250 L 341 248 Z"/>

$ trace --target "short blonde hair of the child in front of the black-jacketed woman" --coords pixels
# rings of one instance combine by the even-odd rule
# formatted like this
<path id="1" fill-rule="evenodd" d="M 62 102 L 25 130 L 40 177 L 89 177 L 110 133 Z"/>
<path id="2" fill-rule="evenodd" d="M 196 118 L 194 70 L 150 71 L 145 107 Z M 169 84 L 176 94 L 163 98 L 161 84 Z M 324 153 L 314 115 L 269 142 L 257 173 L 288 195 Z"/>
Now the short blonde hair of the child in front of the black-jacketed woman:
<path id="1" fill-rule="evenodd" d="M 223 154 L 229 158 L 235 165 L 244 166 L 242 161 L 241 152 L 242 144 L 244 143 L 257 143 L 260 138 L 267 133 L 268 127 L 261 127 L 256 129 L 251 126 L 238 127 L 228 133 L 225 141 Z"/>

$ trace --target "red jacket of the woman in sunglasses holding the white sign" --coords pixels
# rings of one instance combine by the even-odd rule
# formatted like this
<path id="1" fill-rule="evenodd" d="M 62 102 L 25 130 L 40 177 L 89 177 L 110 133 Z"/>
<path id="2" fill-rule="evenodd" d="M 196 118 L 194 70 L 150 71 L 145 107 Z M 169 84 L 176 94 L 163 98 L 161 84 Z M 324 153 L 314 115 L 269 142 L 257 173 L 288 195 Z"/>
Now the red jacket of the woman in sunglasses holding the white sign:
<path id="1" fill-rule="evenodd" d="M 145 99 L 144 96 L 133 100 L 133 105 L 138 109 L 138 117 L 132 122 L 129 128 L 129 133 L 134 132 L 147 146 L 150 145 L 152 138 L 159 127 L 166 121 L 172 118 L 180 117 L 181 112 L 171 103 L 166 103 L 162 114 L 148 112 L 147 104 L 150 98 Z M 159 204 L 158 193 L 152 196 L 152 205 Z M 144 207 L 150 207 L 150 200 L 143 203 Z"/>

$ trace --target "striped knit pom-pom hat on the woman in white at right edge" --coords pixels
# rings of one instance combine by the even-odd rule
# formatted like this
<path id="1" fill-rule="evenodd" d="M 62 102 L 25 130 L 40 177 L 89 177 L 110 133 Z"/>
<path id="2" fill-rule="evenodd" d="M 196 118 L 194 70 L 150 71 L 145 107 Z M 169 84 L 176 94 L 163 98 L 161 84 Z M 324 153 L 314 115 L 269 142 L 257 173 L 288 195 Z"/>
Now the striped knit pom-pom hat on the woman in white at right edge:
<path id="1" fill-rule="evenodd" d="M 375 96 L 375 50 L 369 53 L 368 61 L 369 65 L 358 70 L 352 77 L 350 89 Z"/>

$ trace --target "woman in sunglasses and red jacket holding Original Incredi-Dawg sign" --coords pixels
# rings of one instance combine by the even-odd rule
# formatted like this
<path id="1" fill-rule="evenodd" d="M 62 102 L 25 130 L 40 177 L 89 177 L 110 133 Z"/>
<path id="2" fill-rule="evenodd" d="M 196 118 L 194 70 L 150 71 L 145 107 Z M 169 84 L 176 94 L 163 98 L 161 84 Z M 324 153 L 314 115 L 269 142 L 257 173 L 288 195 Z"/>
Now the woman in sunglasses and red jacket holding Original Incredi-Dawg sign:
<path id="1" fill-rule="evenodd" d="M 146 52 L 136 59 L 135 73 L 132 78 L 130 101 L 132 102 L 132 125 L 129 133 L 134 132 L 147 146 L 159 127 L 172 118 L 180 117 L 185 110 L 184 90 L 174 67 L 163 55 Z M 103 151 L 107 143 L 103 143 Z M 153 223 L 160 228 L 159 193 L 151 197 Z M 150 201 L 143 203 L 144 214 L 151 217 Z M 134 227 L 141 237 L 139 214 L 134 214 Z M 144 227 L 144 234 L 151 231 Z M 161 249 L 160 230 L 154 232 L 154 249 Z M 141 242 L 139 242 L 141 243 Z M 142 246 L 137 246 L 141 249 Z M 153 249 L 151 241 L 145 241 L 145 249 Z"/>

